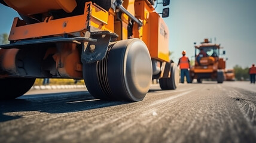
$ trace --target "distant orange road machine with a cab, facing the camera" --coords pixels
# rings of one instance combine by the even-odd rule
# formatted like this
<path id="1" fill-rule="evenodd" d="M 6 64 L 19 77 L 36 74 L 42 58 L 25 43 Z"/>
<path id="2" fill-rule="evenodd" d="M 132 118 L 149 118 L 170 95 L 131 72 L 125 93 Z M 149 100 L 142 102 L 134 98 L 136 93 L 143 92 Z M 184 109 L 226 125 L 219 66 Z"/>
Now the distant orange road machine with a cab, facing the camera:
<path id="1" fill-rule="evenodd" d="M 197 79 L 199 83 L 202 82 L 201 79 L 212 79 L 217 80 L 218 83 L 223 83 L 225 61 L 219 57 L 220 44 L 211 43 L 205 39 L 200 45 L 194 47 L 196 60 L 190 69 L 191 79 Z"/>

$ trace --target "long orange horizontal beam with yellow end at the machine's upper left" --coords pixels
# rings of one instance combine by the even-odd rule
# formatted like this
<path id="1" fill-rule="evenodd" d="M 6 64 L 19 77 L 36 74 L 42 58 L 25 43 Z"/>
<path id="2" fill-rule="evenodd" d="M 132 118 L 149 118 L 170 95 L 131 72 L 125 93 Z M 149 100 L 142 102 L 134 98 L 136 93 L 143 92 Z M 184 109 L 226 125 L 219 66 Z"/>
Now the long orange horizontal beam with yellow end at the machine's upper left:
<path id="1" fill-rule="evenodd" d="M 90 15 L 90 21 L 87 16 Z M 95 26 L 102 30 L 114 32 L 113 16 L 107 11 L 99 9 L 96 5 L 88 2 L 85 5 L 82 15 L 54 19 L 53 17 L 45 17 L 40 23 L 26 24 L 25 21 L 18 17 L 14 18 L 13 26 L 9 36 L 9 41 L 17 41 L 29 38 L 40 38 L 42 36 L 57 36 L 75 32 L 85 32 L 89 26 Z M 78 22 L 79 21 L 79 22 Z M 108 24 L 109 23 L 109 24 Z"/>

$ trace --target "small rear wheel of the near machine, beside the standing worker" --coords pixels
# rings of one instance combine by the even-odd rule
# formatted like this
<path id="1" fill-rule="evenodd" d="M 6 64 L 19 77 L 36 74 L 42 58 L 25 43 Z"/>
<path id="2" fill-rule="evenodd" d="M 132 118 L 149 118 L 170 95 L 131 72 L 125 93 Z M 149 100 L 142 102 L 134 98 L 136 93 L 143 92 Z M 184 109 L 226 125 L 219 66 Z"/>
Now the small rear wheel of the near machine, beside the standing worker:
<path id="1" fill-rule="evenodd" d="M 179 70 L 175 63 L 170 63 L 169 78 L 159 79 L 160 88 L 163 90 L 176 89 L 179 85 Z"/>

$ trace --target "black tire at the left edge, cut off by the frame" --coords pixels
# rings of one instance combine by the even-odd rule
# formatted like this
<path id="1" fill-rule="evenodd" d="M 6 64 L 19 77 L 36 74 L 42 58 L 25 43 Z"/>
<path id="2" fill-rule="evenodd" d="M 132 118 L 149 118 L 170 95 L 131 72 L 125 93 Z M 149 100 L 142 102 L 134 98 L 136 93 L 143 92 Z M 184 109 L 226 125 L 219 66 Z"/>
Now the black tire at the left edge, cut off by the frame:
<path id="1" fill-rule="evenodd" d="M 13 100 L 31 89 L 35 78 L 5 78 L 0 79 L 0 100 Z"/>

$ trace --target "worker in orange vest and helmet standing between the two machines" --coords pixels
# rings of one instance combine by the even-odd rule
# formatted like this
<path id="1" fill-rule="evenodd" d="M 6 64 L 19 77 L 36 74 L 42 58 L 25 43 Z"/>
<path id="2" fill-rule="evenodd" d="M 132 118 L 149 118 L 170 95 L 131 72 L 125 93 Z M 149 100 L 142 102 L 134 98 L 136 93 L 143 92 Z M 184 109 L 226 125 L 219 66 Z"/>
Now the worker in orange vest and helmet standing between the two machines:
<path id="1" fill-rule="evenodd" d="M 190 83 L 190 74 L 188 70 L 190 69 L 190 60 L 186 57 L 186 51 L 182 51 L 182 57 L 179 58 L 179 69 L 181 69 L 181 83 L 184 83 L 184 75 L 186 76 L 187 83 Z"/>

